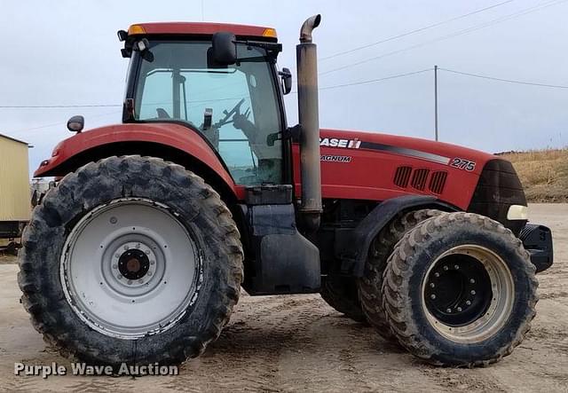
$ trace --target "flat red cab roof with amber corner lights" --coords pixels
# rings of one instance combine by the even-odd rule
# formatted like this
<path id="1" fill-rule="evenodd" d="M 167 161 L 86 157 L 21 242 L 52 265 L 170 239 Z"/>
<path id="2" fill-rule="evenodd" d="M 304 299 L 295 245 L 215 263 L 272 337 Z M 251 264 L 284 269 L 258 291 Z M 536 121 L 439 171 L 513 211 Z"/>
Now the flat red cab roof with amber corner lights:
<path id="1" fill-rule="evenodd" d="M 130 26 L 128 35 L 213 35 L 219 31 L 231 32 L 241 37 L 277 38 L 273 28 L 207 22 L 137 23 Z"/>

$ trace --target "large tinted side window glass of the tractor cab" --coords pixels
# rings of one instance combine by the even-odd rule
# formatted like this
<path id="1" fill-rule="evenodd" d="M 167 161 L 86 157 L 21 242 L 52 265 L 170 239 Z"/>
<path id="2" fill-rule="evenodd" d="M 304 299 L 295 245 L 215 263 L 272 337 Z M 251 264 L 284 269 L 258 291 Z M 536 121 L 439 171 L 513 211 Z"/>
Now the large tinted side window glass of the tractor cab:
<path id="1" fill-rule="evenodd" d="M 135 90 L 135 119 L 186 122 L 209 139 L 241 185 L 280 184 L 280 110 L 263 49 L 238 44 L 240 60 L 208 66 L 210 42 L 153 42 Z"/>

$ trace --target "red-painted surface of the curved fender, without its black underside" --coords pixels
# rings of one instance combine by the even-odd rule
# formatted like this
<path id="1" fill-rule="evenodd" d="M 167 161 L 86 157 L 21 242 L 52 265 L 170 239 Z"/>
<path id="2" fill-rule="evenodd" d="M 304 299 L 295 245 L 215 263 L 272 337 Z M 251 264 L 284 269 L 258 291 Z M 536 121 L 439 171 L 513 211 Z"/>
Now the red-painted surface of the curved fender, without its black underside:
<path id="1" fill-rule="evenodd" d="M 51 159 L 36 170 L 34 177 L 64 176 L 65 173 L 58 171 L 59 165 L 64 161 L 94 147 L 115 142 L 152 142 L 182 150 L 215 170 L 237 199 L 244 198 L 244 187 L 234 184 L 233 178 L 203 138 L 193 130 L 169 123 L 118 124 L 76 134 L 53 149 Z"/>

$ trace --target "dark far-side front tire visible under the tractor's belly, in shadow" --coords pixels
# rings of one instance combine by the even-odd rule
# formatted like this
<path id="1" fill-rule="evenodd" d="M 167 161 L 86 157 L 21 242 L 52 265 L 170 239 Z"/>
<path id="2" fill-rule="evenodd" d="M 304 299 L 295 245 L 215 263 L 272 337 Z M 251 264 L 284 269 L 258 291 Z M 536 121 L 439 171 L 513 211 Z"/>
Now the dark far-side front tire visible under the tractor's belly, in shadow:
<path id="1" fill-rule="evenodd" d="M 352 277 L 327 276 L 321 278 L 320 295 L 335 310 L 357 321 L 366 322 L 361 310 L 357 282 Z"/>

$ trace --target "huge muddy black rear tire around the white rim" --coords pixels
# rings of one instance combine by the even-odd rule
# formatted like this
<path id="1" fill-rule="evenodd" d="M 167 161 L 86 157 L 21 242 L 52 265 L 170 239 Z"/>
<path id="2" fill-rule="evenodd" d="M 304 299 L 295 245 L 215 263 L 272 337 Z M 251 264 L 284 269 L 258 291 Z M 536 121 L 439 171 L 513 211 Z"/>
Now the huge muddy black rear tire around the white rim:
<path id="1" fill-rule="evenodd" d="M 191 239 L 199 248 L 199 295 L 185 306 L 172 328 L 146 333 L 136 340 L 103 334 L 83 322 L 63 295 L 64 280 L 59 278 L 63 269 L 59 264 L 61 255 L 71 248 L 66 243 L 69 230 L 83 216 L 111 205 L 111 200 L 125 198 L 134 200 L 131 203 L 146 199 L 169 208 L 178 217 L 177 222 L 193 233 Z M 109 157 L 68 174 L 34 210 L 22 240 L 18 280 L 23 293 L 21 303 L 33 325 L 62 355 L 90 364 L 118 368 L 123 362 L 178 364 L 195 358 L 217 339 L 239 299 L 242 247 L 231 212 L 201 177 L 162 159 Z M 184 281 L 182 285 L 191 284 Z M 87 290 L 83 296 L 85 293 Z M 117 297 L 98 306 L 120 307 Z M 144 312 L 152 312 L 146 304 L 141 306 L 146 308 Z M 85 315 L 83 310 L 80 315 Z"/>

